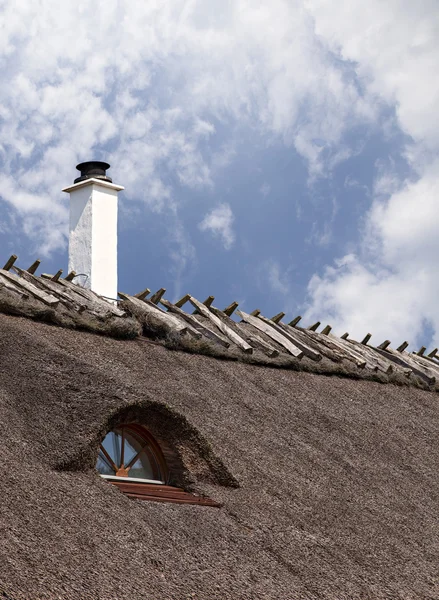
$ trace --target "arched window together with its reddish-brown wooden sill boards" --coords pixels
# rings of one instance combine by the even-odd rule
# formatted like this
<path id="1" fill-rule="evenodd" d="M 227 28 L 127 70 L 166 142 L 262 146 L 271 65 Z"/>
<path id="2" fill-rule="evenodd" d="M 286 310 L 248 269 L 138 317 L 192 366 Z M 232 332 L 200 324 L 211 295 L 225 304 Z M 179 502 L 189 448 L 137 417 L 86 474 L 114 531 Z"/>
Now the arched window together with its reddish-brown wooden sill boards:
<path id="1" fill-rule="evenodd" d="M 160 446 L 142 425 L 119 425 L 99 446 L 96 470 L 129 498 L 220 506 L 217 502 L 167 485 L 168 468 Z"/>

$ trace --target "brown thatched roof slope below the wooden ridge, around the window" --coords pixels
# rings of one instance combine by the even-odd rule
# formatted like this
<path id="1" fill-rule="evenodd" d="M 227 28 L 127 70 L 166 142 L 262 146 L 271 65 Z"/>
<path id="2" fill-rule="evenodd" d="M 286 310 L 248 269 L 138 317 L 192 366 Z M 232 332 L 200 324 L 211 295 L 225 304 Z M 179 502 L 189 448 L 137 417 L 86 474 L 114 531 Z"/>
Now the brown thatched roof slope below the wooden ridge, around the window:
<path id="1" fill-rule="evenodd" d="M 0 355 L 13 600 L 439 596 L 437 394 L 5 315 Z M 124 411 L 169 426 L 186 486 L 223 507 L 101 480 L 98 443 Z"/>

